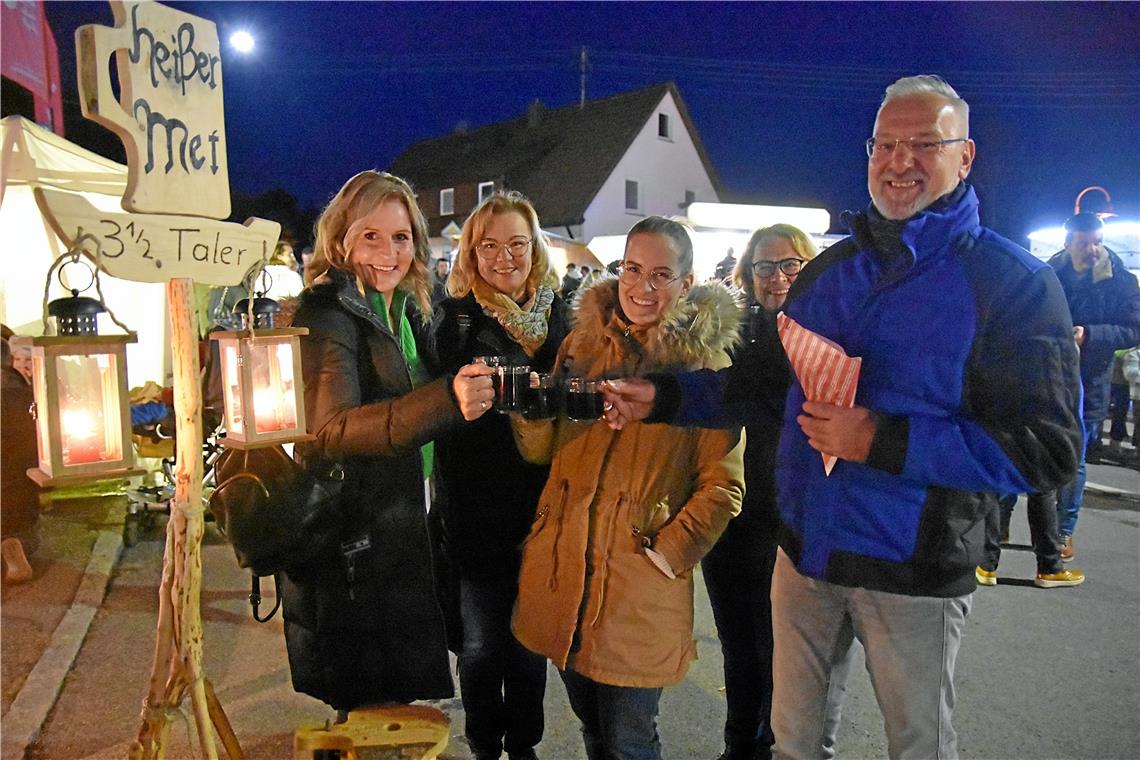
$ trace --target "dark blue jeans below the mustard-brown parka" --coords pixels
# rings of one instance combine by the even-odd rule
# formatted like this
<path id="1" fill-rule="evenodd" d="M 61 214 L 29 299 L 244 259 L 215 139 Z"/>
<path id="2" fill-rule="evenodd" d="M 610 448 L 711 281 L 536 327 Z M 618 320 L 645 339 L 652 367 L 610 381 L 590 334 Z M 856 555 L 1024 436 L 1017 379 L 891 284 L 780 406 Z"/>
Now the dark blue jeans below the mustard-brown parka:
<path id="1" fill-rule="evenodd" d="M 560 672 L 588 760 L 661 760 L 660 688 L 608 686 L 572 670 Z"/>

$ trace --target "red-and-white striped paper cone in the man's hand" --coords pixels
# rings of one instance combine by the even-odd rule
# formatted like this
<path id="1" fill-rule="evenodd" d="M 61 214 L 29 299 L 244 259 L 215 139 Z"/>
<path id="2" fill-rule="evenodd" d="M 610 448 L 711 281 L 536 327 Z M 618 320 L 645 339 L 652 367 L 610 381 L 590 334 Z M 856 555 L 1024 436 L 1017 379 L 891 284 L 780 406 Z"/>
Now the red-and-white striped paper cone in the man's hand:
<path id="1" fill-rule="evenodd" d="M 848 408 L 855 406 L 858 369 L 863 363 L 861 358 L 848 357 L 838 344 L 813 333 L 782 311 L 776 314 L 776 330 L 808 401 Z M 830 475 L 836 457 L 822 456 L 823 472 Z"/>

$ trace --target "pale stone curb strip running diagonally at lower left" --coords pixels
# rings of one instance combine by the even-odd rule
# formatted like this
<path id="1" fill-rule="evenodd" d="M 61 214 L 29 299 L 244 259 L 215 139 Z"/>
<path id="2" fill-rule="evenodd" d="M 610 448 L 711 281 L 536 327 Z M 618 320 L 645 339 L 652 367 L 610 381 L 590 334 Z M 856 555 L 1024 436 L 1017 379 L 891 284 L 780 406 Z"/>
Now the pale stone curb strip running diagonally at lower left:
<path id="1" fill-rule="evenodd" d="M 95 613 L 107 594 L 111 571 L 122 551 L 121 532 L 99 531 L 71 607 L 52 631 L 48 647 L 3 717 L 0 757 L 13 760 L 24 758 L 27 749 L 39 739 L 48 713 L 63 689 L 64 679 L 83 646 Z"/>

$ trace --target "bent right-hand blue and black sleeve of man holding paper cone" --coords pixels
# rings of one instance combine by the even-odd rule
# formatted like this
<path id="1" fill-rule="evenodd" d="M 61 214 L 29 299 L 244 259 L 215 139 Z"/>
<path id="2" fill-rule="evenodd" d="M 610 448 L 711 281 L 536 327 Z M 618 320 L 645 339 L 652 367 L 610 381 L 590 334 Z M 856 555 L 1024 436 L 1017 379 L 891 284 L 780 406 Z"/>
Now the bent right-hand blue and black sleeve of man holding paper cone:
<path id="1" fill-rule="evenodd" d="M 868 464 L 930 485 L 1001 495 L 1057 488 L 1081 455 L 1080 374 L 1048 268 L 1002 287 L 979 326 L 956 416 L 880 419 Z"/>

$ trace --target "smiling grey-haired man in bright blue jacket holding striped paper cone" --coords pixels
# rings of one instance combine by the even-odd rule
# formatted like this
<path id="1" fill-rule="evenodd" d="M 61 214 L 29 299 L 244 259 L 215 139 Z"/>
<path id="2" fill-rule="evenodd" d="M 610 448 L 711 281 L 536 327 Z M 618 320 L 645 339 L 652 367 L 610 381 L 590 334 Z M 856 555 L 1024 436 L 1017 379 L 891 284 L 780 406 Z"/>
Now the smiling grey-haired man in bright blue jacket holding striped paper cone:
<path id="1" fill-rule="evenodd" d="M 953 758 L 985 516 L 1076 472 L 1077 353 L 1053 271 L 979 223 L 969 108 L 946 82 L 887 88 L 866 149 L 871 205 L 788 299 L 862 369 L 852 408 L 793 377 L 775 423 L 775 753 L 824 755 L 831 664 L 857 638 L 890 757 Z M 781 365 L 611 383 L 606 419 L 739 425 L 769 414 Z M 821 453 L 839 458 L 830 475 Z"/>

